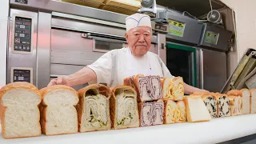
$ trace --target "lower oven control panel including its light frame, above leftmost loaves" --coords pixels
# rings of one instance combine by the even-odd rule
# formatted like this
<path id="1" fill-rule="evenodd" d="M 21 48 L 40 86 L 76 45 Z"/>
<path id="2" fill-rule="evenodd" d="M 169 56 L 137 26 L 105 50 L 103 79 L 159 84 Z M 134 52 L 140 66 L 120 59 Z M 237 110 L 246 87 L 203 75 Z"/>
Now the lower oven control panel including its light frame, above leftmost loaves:
<path id="1" fill-rule="evenodd" d="M 33 69 L 26 67 L 12 67 L 10 82 L 33 83 Z"/>

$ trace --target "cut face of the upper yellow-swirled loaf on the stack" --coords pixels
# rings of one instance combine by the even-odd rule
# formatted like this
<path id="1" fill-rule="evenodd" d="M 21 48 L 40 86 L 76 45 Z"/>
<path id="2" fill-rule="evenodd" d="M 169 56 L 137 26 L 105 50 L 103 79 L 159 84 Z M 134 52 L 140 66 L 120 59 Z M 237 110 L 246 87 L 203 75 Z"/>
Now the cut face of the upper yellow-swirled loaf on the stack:
<path id="1" fill-rule="evenodd" d="M 180 101 L 184 96 L 184 82 L 182 77 L 175 77 L 170 81 L 170 99 Z"/>

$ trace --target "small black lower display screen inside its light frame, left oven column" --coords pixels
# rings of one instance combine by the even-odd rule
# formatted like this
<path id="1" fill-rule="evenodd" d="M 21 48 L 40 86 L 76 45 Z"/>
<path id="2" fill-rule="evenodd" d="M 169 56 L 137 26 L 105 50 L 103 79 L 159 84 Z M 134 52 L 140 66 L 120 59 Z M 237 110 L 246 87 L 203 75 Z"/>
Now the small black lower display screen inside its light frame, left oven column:
<path id="1" fill-rule="evenodd" d="M 14 70 L 14 82 L 30 82 L 30 70 Z"/>

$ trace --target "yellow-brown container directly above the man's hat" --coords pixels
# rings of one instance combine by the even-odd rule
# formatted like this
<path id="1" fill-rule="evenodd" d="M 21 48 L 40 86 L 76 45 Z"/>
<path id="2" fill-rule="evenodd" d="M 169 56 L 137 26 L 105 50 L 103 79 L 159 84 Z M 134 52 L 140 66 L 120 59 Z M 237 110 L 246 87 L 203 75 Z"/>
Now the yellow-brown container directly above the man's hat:
<path id="1" fill-rule="evenodd" d="M 142 7 L 142 0 L 106 0 L 102 10 L 113 11 L 120 14 L 135 14 Z"/>

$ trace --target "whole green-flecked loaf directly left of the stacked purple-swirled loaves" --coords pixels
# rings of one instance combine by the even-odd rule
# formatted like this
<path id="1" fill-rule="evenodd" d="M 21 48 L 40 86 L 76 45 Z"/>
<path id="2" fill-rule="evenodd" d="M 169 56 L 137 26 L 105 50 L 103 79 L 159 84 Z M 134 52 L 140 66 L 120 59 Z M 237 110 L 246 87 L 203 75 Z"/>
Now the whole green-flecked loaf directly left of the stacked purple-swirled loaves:
<path id="1" fill-rule="evenodd" d="M 137 93 L 130 86 L 116 86 L 111 91 L 110 116 L 115 130 L 138 127 Z"/>

